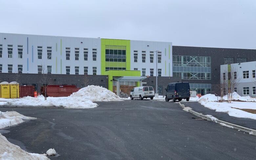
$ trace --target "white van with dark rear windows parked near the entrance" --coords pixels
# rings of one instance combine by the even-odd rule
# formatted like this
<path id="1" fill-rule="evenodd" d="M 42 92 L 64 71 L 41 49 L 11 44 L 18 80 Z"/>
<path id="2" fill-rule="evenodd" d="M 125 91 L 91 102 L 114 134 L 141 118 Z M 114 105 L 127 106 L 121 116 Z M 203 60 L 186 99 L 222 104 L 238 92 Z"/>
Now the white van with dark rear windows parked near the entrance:
<path id="1" fill-rule="evenodd" d="M 130 98 L 139 98 L 142 100 L 143 98 L 150 98 L 153 99 L 155 97 L 155 91 L 151 86 L 144 86 L 144 87 L 135 87 L 131 90 Z"/>

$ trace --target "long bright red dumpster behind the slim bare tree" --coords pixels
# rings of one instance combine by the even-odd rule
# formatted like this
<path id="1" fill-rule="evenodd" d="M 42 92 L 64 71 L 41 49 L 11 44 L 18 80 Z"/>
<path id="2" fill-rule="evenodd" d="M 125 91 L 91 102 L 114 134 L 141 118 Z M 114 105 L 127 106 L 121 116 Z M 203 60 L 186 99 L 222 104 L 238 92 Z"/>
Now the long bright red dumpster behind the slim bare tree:
<path id="1" fill-rule="evenodd" d="M 46 97 L 67 97 L 78 90 L 80 90 L 80 88 L 76 88 L 75 85 L 48 85 L 46 88 Z M 41 87 L 41 94 L 45 96 L 44 86 Z"/>

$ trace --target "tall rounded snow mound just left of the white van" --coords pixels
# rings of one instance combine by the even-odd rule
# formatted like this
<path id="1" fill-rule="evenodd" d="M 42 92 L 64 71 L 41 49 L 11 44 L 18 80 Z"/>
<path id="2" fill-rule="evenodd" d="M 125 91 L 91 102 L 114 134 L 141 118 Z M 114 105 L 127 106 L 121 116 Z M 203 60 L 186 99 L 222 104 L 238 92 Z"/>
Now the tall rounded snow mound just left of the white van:
<path id="1" fill-rule="evenodd" d="M 99 86 L 87 86 L 77 92 L 71 94 L 69 97 L 77 99 L 88 99 L 93 102 L 95 101 L 121 101 L 122 99 L 118 97 L 112 91 L 99 87 Z"/>

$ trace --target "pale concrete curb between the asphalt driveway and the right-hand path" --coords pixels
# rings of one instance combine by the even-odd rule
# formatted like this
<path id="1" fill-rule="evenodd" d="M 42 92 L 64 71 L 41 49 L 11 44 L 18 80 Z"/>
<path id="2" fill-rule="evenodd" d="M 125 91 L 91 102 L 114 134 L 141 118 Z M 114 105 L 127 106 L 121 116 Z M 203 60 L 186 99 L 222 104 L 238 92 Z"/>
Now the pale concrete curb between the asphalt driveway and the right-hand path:
<path id="1" fill-rule="evenodd" d="M 185 105 L 181 104 L 181 102 L 179 102 L 179 106 L 181 106 L 181 108 L 183 108 L 183 109 L 186 108 Z M 188 112 L 190 112 L 191 114 L 193 114 L 197 117 L 200 117 L 200 118 L 206 119 L 208 121 L 218 123 L 222 126 L 226 126 L 226 127 L 237 129 L 237 130 L 242 130 L 242 131 L 247 132 L 249 134 L 256 135 L 256 130 L 249 129 L 249 128 L 246 128 L 246 127 L 243 127 L 243 126 L 239 126 L 239 125 L 236 125 L 236 124 L 233 124 L 233 123 L 226 122 L 226 121 L 222 121 L 222 120 L 219 120 L 219 119 L 214 120 L 214 119 L 211 119 L 211 117 L 208 117 L 204 114 L 198 113 L 198 112 L 196 112 L 192 109 L 188 110 Z"/>

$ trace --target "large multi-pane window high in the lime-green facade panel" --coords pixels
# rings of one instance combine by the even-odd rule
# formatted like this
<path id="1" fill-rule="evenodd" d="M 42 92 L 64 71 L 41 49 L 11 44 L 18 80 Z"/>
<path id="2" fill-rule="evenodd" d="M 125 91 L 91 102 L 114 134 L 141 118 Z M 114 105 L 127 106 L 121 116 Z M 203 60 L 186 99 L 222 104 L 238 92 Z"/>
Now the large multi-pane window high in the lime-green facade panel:
<path id="1" fill-rule="evenodd" d="M 106 62 L 126 62 L 126 46 L 110 46 L 106 45 L 105 49 Z M 122 64 L 120 67 L 126 67 Z"/>

